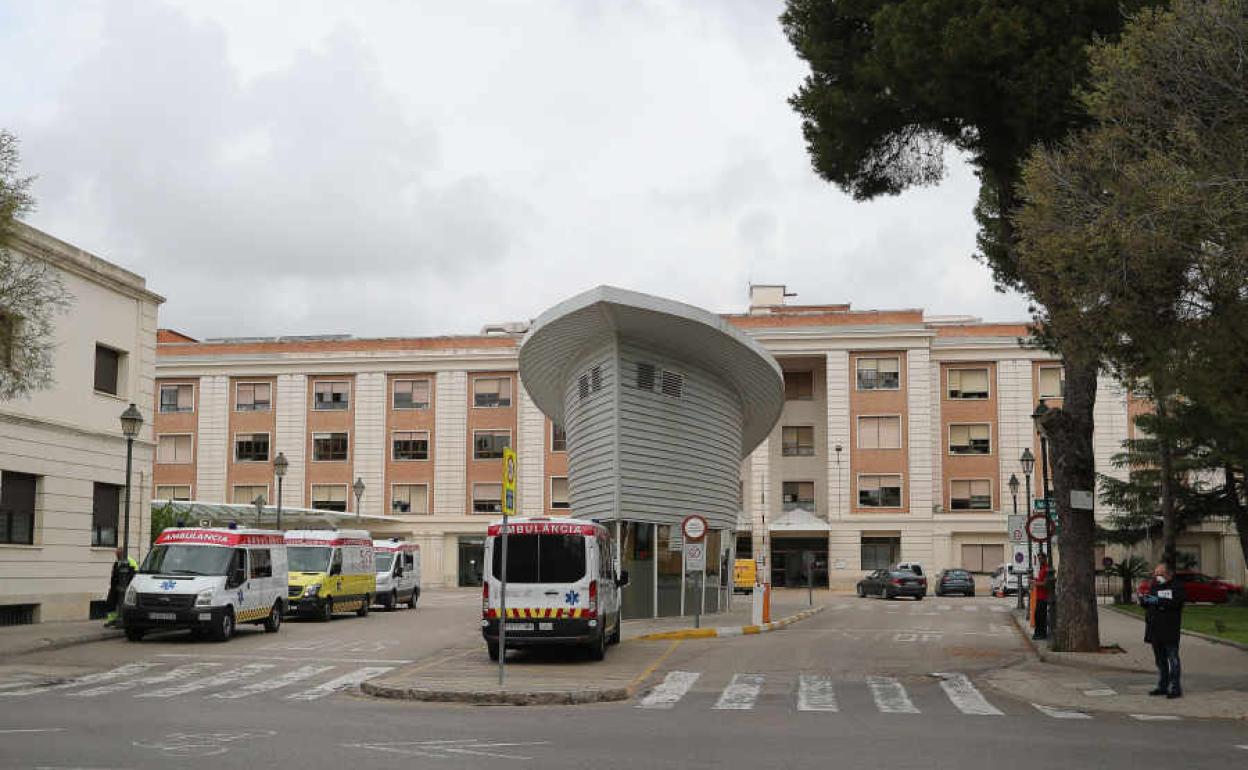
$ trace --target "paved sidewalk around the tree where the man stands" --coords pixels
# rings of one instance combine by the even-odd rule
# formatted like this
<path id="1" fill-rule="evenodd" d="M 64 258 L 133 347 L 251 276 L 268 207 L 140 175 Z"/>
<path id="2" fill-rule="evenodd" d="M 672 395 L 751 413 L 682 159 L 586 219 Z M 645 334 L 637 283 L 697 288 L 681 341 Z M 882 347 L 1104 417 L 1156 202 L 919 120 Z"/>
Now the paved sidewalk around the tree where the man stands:
<path id="1" fill-rule="evenodd" d="M 1152 646 L 1143 640 L 1143 620 L 1098 609 L 1101 644 L 1118 645 L 1122 653 L 1055 653 L 1037 641 L 1037 660 L 996 671 L 990 684 L 1031 703 L 1067 709 L 1248 719 L 1248 653 L 1184 635 L 1183 698 L 1149 696 L 1157 668 Z"/>

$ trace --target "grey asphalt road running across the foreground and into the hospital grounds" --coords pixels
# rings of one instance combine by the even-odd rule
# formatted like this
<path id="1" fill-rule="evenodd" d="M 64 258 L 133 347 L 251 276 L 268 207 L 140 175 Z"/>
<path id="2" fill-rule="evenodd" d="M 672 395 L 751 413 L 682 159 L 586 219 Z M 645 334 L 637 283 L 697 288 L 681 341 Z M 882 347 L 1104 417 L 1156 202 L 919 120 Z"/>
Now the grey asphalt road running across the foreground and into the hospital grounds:
<path id="1" fill-rule="evenodd" d="M 431 593 L 414 612 L 290 623 L 277 635 L 228 644 L 109 641 L 17 659 L 0 666 L 0 768 L 1051 770 L 1248 761 L 1242 724 L 1058 718 L 983 686 L 980 674 L 1025 654 L 995 609 L 1003 604 L 983 598 L 836 598 L 781 631 L 685 641 L 651 688 L 620 704 L 473 708 L 353 694 L 352 683 L 371 671 L 475 644 L 475 603 L 470 592 Z"/>

